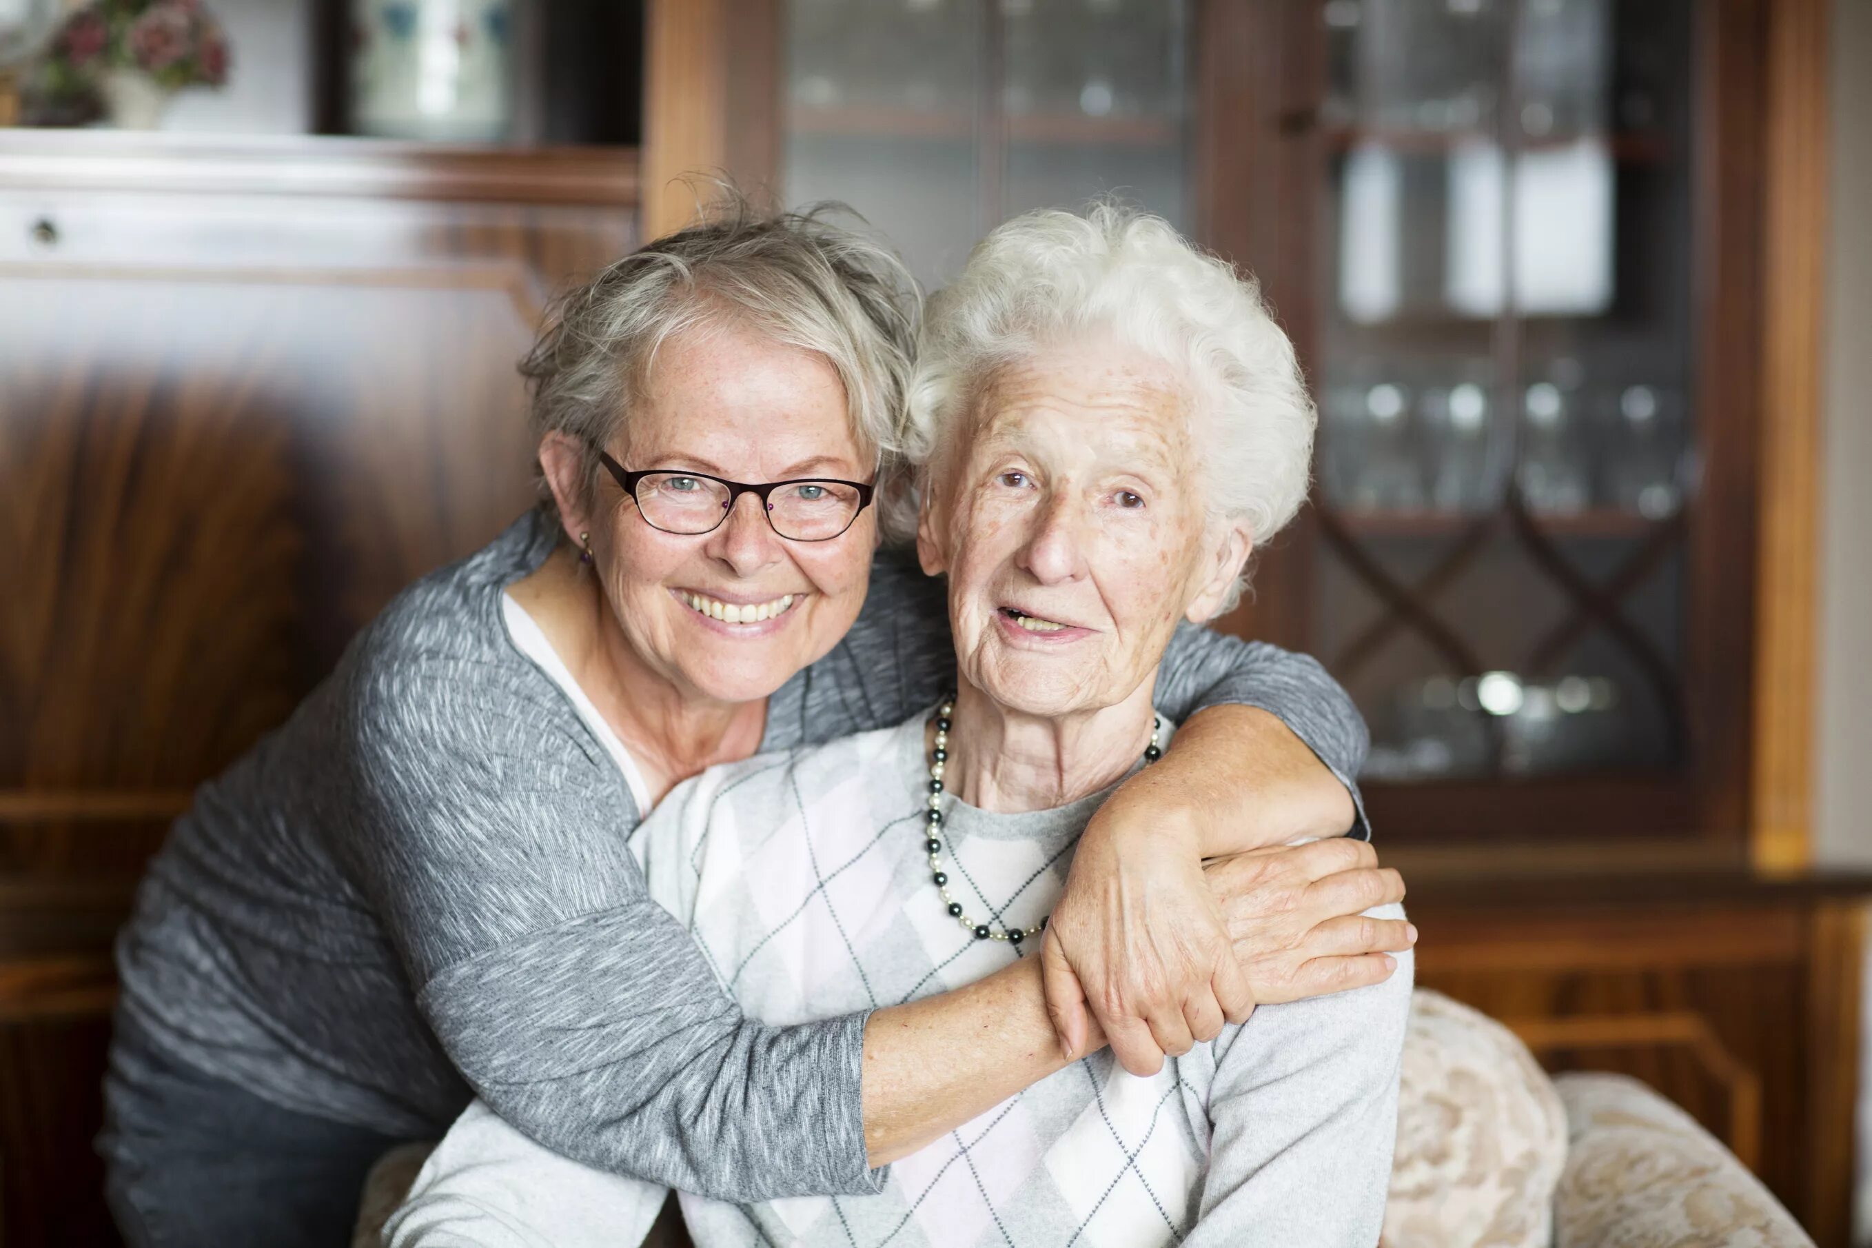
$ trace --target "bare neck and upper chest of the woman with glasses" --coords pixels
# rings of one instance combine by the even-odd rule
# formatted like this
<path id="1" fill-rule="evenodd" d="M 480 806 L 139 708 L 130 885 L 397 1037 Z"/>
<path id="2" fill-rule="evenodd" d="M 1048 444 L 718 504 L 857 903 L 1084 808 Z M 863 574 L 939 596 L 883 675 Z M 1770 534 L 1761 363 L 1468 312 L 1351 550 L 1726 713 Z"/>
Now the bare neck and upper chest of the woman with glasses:
<path id="1" fill-rule="evenodd" d="M 509 592 L 592 699 L 661 798 L 680 781 L 760 748 L 768 705 L 723 703 L 680 690 L 636 652 L 610 600 L 577 555 L 554 553 Z"/>

